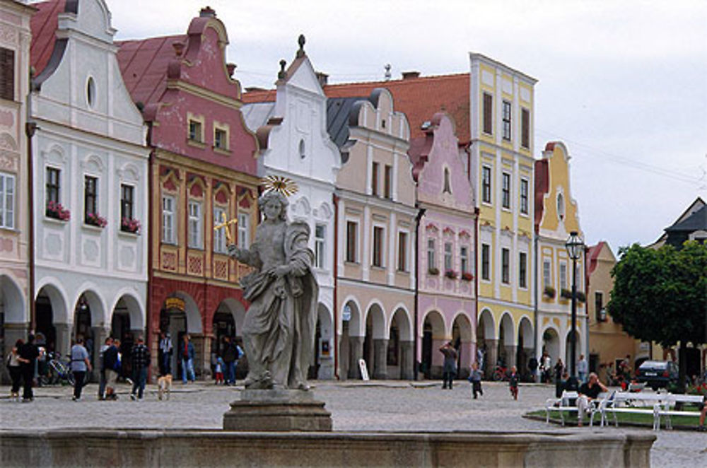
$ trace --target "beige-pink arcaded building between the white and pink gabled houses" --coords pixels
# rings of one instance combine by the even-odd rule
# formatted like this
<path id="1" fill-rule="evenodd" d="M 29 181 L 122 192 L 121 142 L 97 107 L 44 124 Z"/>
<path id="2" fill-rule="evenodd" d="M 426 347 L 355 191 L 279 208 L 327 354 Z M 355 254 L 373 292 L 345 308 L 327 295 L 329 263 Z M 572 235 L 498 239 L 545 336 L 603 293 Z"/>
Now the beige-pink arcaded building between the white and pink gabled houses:
<path id="1" fill-rule="evenodd" d="M 358 378 L 363 358 L 373 378 L 409 379 L 416 215 L 409 125 L 384 89 L 353 103 L 349 116 L 352 146 L 337 178 L 338 375 Z"/>

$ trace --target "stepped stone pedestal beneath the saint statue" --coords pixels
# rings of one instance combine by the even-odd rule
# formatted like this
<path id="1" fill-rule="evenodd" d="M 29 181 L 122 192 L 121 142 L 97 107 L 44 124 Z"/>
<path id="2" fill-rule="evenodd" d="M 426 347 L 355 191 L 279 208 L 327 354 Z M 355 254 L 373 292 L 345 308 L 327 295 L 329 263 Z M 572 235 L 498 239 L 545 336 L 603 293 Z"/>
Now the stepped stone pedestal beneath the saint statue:
<path id="1" fill-rule="evenodd" d="M 244 390 L 223 415 L 226 431 L 331 431 L 332 414 L 305 390 Z"/>

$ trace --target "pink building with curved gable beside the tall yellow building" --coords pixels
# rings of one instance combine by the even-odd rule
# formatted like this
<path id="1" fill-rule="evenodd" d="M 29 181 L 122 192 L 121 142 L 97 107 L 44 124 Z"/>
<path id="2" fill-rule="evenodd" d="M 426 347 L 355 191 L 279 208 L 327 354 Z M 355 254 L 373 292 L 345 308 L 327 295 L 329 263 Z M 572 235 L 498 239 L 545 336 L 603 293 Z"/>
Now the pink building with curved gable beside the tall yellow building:
<path id="1" fill-rule="evenodd" d="M 442 373 L 438 350 L 459 351 L 457 375 L 468 375 L 476 354 L 476 211 L 474 190 L 459 156 L 455 124 L 442 112 L 411 141 L 417 202 L 423 212 L 417 238 L 416 356 L 426 378 Z"/>

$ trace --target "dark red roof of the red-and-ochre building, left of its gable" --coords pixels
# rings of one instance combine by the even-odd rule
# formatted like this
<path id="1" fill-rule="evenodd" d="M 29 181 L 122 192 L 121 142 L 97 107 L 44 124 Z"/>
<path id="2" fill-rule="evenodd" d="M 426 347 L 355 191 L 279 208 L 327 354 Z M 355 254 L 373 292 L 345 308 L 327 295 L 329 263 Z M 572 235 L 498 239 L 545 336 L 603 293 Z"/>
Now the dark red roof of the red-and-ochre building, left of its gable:
<path id="1" fill-rule="evenodd" d="M 185 45 L 187 35 L 116 42 L 120 71 L 134 102 L 148 105 L 162 96 L 167 87 L 167 67 L 176 58 L 175 42 Z"/>

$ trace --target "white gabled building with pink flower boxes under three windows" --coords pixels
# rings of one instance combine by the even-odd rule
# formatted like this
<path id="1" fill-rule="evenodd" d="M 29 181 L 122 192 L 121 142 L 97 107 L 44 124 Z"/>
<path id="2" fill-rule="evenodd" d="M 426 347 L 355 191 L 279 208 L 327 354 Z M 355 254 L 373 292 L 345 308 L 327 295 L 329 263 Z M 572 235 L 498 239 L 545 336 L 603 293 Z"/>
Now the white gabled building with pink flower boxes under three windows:
<path id="1" fill-rule="evenodd" d="M 95 361 L 107 335 L 144 333 L 148 150 L 105 1 L 62 5 L 40 4 L 33 29 L 35 329 L 62 353 L 83 335 Z"/>

